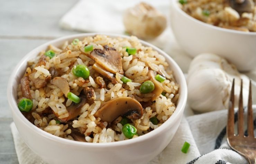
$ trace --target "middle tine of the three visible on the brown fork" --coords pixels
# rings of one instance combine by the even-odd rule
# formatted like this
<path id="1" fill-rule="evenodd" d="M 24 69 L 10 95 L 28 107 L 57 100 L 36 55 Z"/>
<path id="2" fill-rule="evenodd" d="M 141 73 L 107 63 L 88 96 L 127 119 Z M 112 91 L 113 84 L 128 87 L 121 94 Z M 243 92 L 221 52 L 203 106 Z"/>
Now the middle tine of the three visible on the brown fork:
<path id="1" fill-rule="evenodd" d="M 238 104 L 238 135 L 244 137 L 243 79 L 241 79 Z"/>

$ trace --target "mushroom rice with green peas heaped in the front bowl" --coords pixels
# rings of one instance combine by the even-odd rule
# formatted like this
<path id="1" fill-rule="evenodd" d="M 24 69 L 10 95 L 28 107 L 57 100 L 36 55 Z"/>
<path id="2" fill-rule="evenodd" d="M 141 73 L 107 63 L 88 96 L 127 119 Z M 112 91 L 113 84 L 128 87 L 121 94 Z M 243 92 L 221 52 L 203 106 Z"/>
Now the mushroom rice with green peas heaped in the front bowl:
<path id="1" fill-rule="evenodd" d="M 19 110 L 35 126 L 69 140 L 144 135 L 173 114 L 179 98 L 165 58 L 136 37 L 95 35 L 49 45 L 27 65 Z"/>

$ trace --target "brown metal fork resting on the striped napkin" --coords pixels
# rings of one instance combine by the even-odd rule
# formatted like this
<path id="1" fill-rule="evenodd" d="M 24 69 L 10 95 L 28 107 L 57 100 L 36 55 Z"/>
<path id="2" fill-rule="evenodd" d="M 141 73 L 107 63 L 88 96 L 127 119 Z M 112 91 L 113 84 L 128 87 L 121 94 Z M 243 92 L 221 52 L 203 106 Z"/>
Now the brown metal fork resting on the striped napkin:
<path id="1" fill-rule="evenodd" d="M 233 80 L 227 124 L 227 140 L 229 146 L 244 156 L 250 164 L 256 164 L 256 139 L 254 137 L 253 127 L 253 108 L 252 108 L 252 85 L 249 85 L 248 112 L 247 112 L 247 132 L 248 136 L 244 136 L 244 109 L 243 109 L 243 81 L 241 80 L 241 89 L 238 104 L 238 134 L 234 134 L 234 84 Z"/>

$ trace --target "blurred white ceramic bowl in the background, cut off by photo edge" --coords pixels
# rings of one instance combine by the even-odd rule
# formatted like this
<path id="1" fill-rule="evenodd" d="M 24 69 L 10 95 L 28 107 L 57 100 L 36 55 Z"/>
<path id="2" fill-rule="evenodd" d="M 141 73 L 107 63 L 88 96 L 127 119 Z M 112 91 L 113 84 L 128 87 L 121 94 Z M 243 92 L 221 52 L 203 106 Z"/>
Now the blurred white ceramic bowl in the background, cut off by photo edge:
<path id="1" fill-rule="evenodd" d="M 192 57 L 204 52 L 218 54 L 238 70 L 256 68 L 256 32 L 241 32 L 216 27 L 185 13 L 178 0 L 171 0 L 171 26 L 181 47 Z"/>

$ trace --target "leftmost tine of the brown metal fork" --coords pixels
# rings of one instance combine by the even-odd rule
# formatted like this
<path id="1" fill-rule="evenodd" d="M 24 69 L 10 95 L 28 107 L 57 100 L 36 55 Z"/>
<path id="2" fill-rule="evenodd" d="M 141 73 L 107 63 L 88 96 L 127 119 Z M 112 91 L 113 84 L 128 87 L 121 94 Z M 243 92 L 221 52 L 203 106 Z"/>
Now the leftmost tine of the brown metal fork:
<path id="1" fill-rule="evenodd" d="M 230 92 L 230 100 L 228 107 L 228 125 L 227 125 L 227 135 L 228 137 L 234 136 L 234 86 L 235 79 L 233 79 L 232 88 Z"/>

